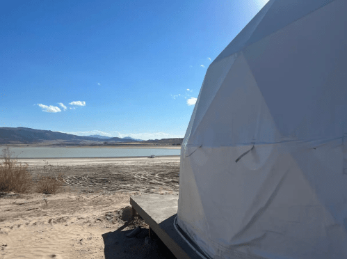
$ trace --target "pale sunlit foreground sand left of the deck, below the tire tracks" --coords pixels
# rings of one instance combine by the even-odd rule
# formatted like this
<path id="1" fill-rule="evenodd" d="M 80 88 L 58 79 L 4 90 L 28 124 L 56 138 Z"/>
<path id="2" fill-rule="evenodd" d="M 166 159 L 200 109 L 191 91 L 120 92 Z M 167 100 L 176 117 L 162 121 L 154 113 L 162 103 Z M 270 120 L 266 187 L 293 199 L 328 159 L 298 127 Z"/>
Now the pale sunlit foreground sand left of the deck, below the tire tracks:
<path id="1" fill-rule="evenodd" d="M 104 215 L 127 207 L 128 198 L 129 194 L 3 197 L 0 200 L 0 256 L 83 258 L 84 253 L 90 252 L 88 256 L 100 253 L 95 258 L 103 258 L 102 234 L 107 228 L 121 224 L 106 221 Z"/>

